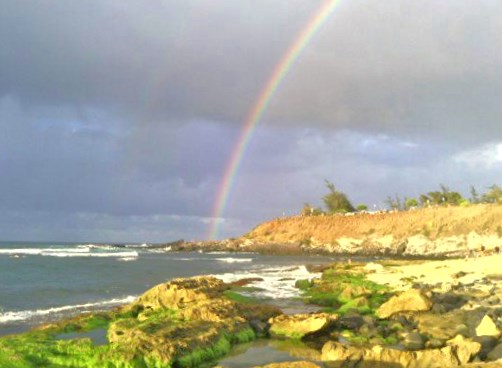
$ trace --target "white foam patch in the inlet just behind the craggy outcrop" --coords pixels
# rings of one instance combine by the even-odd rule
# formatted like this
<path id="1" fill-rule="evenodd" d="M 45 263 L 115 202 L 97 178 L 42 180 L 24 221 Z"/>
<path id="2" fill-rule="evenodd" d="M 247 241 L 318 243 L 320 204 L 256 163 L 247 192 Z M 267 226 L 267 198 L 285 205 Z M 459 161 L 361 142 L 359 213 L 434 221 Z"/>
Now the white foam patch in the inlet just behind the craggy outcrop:
<path id="1" fill-rule="evenodd" d="M 257 287 L 260 290 L 246 292 L 246 294 L 263 298 L 285 299 L 300 295 L 299 289 L 295 287 L 296 280 L 312 279 L 319 275 L 319 273 L 309 272 L 305 266 L 285 266 L 241 273 L 224 273 L 214 276 L 224 282 L 234 282 L 244 278 L 261 278 L 263 279 L 262 281 L 253 281 L 249 284 L 249 286 Z"/>

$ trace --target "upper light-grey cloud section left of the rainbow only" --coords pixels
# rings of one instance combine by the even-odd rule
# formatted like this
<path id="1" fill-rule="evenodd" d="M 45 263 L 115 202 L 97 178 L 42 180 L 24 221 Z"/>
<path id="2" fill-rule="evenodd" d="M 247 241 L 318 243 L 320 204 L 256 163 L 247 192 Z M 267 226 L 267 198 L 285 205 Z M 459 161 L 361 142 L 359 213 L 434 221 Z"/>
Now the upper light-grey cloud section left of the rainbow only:
<path id="1" fill-rule="evenodd" d="M 0 93 L 134 120 L 240 118 L 315 5 L 2 1 Z"/>

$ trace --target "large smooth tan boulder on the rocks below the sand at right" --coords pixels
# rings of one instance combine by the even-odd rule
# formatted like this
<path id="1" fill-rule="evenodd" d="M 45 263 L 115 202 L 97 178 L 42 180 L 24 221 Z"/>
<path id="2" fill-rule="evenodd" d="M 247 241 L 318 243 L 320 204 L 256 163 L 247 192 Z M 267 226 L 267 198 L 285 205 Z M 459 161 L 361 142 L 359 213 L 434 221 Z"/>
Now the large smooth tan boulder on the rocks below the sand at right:
<path id="1" fill-rule="evenodd" d="M 432 302 L 420 290 L 410 289 L 404 293 L 393 296 L 378 308 L 376 315 L 379 318 L 389 318 L 400 312 L 428 311 Z"/>

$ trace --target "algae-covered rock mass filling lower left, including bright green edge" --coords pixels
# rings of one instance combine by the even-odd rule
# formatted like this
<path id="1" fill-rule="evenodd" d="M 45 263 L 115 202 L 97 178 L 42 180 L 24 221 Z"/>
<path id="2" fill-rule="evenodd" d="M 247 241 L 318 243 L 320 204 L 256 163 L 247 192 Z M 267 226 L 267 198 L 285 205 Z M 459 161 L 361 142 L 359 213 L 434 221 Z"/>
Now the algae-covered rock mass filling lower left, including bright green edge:
<path id="1" fill-rule="evenodd" d="M 0 366 L 197 367 L 227 354 L 233 344 L 253 340 L 252 321 L 266 323 L 280 313 L 274 307 L 230 300 L 224 296 L 228 289 L 214 277 L 175 279 L 114 311 L 2 337 Z M 96 328 L 108 330 L 108 344 L 57 338 L 61 333 Z"/>

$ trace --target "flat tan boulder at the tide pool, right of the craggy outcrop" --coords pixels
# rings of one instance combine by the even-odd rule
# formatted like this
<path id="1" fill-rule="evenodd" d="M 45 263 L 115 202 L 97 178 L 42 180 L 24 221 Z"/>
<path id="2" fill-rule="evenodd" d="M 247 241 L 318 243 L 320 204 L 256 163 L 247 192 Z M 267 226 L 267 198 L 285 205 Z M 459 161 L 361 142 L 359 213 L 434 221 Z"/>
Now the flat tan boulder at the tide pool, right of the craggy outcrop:
<path id="1" fill-rule="evenodd" d="M 300 339 L 306 334 L 320 331 L 334 322 L 337 315 L 328 313 L 280 315 L 269 319 L 270 334 L 276 337 Z"/>

